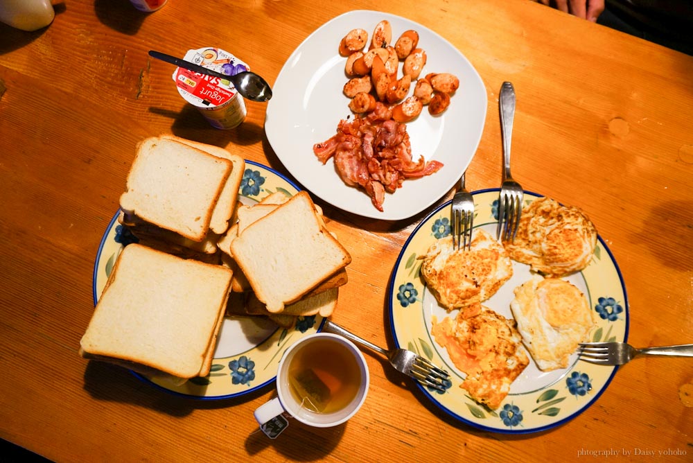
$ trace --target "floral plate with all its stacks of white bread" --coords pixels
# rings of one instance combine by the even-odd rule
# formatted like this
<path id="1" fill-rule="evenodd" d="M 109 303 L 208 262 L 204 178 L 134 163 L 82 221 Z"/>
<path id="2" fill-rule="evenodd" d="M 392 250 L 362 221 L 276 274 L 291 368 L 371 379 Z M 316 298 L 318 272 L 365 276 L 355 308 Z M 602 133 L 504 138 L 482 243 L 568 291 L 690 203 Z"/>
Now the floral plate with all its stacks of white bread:
<path id="1" fill-rule="evenodd" d="M 120 204 L 80 354 L 167 392 L 227 399 L 272 383 L 283 351 L 319 331 L 347 282 L 351 256 L 308 193 L 224 148 L 142 141 Z"/>

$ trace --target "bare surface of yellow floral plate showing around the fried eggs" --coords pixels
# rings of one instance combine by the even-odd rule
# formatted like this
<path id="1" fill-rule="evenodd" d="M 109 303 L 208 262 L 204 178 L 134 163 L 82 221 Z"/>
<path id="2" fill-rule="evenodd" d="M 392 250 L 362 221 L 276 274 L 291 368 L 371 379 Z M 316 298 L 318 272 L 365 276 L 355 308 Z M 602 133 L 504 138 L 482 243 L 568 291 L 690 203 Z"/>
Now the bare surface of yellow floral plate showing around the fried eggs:
<path id="1" fill-rule="evenodd" d="M 498 189 L 477 191 L 475 229 L 484 228 L 495 236 L 498 226 Z M 525 202 L 538 198 L 525 192 Z M 541 372 L 534 360 L 511 387 L 510 394 L 497 410 L 490 410 L 471 399 L 459 387 L 464 380 L 450 361 L 446 349 L 430 334 L 432 316 L 448 316 L 421 278 L 421 260 L 435 240 L 450 234 L 450 202 L 442 204 L 414 229 L 405 243 L 394 268 L 389 288 L 389 315 L 398 347 L 406 347 L 442 365 L 451 374 L 446 392 L 419 386 L 441 410 L 455 419 L 482 430 L 497 433 L 533 433 L 547 430 L 576 417 L 599 397 L 617 367 L 604 367 L 571 357 L 566 369 Z M 484 305 L 511 318 L 510 302 L 516 286 L 529 279 L 529 266 L 513 262 L 513 277 Z M 599 237 L 593 259 L 581 272 L 565 277 L 587 297 L 595 311 L 597 325 L 590 333 L 593 341 L 625 341 L 628 334 L 626 290 L 620 270 L 611 252 Z M 453 313 L 454 316 L 454 313 Z M 531 356 L 530 356 L 531 359 Z M 446 385 L 447 386 L 447 385 Z"/>

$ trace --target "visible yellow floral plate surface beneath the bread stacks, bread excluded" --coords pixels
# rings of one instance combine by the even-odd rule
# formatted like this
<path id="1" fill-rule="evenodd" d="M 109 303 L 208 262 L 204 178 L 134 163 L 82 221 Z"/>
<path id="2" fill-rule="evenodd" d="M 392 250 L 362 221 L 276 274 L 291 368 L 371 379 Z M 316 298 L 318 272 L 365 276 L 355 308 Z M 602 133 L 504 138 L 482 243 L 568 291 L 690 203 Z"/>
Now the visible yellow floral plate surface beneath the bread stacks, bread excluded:
<path id="1" fill-rule="evenodd" d="M 253 161 L 245 161 L 243 180 L 238 188 L 239 200 L 253 204 L 281 191 L 292 196 L 299 191 L 277 171 Z M 123 247 L 137 243 L 128 227 L 118 222 L 118 213 L 101 239 L 94 264 L 94 304 L 103 292 L 116 258 Z M 279 360 L 286 348 L 301 337 L 319 331 L 322 317 L 299 317 L 291 329 L 258 317 L 227 317 L 222 326 L 217 351 L 208 376 L 192 378 L 183 385 L 172 385 L 159 378 L 134 373 L 146 383 L 167 392 L 198 399 L 227 399 L 257 390 L 277 377 Z M 244 339 L 245 337 L 245 339 Z"/>

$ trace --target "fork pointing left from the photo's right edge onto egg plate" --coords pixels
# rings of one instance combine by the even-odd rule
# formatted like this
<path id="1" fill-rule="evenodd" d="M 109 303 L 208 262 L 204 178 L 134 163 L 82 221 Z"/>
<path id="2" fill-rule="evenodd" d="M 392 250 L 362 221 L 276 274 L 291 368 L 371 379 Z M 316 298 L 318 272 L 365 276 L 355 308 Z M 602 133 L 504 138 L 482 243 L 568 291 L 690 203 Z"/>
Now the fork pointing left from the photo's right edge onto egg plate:
<path id="1" fill-rule="evenodd" d="M 583 342 L 577 350 L 580 360 L 597 365 L 623 365 L 639 355 L 693 357 L 693 344 L 635 349 L 626 342 Z"/>

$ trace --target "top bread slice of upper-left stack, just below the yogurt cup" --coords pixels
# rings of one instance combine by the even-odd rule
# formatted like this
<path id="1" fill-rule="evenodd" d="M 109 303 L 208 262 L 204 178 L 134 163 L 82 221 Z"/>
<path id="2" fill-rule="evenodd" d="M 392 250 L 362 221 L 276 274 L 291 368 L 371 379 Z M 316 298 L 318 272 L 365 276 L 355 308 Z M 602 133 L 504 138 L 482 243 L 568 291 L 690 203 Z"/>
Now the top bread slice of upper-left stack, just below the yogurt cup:
<path id="1" fill-rule="evenodd" d="M 229 159 L 171 139 L 150 137 L 137 146 L 121 209 L 202 241 L 231 166 Z"/>

